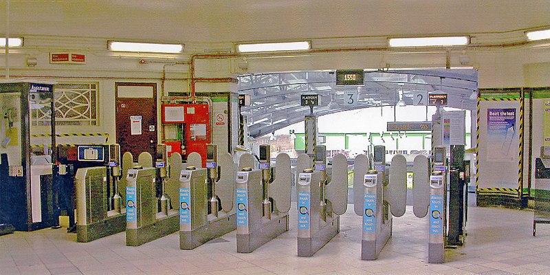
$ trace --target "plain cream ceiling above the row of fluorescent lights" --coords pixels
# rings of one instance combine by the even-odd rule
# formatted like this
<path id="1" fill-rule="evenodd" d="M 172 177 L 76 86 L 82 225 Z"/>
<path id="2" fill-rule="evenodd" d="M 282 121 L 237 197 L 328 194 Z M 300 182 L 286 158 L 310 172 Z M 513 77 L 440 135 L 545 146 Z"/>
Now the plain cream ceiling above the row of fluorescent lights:
<path id="1" fill-rule="evenodd" d="M 5 33 L 6 1 L 0 3 Z M 9 0 L 10 33 L 281 41 L 505 32 L 550 25 L 550 0 Z"/>

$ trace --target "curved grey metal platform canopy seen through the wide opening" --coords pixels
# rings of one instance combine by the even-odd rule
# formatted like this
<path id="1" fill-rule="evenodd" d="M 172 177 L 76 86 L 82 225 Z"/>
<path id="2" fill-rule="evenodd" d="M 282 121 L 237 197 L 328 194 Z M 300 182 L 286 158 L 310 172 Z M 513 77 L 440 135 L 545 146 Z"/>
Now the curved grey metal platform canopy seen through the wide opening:
<path id="1" fill-rule="evenodd" d="M 304 120 L 310 107 L 301 95 L 318 95 L 313 114 L 328 115 L 368 107 L 428 105 L 429 94 L 447 94 L 444 106 L 476 109 L 477 71 L 418 69 L 364 71 L 362 85 L 337 85 L 336 71 L 283 72 L 239 76 L 238 92 L 250 95 L 241 107 L 252 137 Z"/>

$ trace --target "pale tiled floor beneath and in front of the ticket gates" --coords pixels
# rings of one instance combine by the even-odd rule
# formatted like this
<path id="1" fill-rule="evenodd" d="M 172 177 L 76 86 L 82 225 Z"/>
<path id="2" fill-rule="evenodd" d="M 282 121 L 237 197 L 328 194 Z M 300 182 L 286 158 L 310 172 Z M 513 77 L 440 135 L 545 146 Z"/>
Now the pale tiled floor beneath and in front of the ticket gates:
<path id="1" fill-rule="evenodd" d="M 412 208 L 394 219 L 379 259 L 361 261 L 361 217 L 350 205 L 340 234 L 311 258 L 296 256 L 293 211 L 291 230 L 250 254 L 235 252 L 235 232 L 192 251 L 179 250 L 177 233 L 133 248 L 124 233 L 76 243 L 63 229 L 16 232 L 0 236 L 0 274 L 550 274 L 550 225 L 533 237 L 528 210 L 469 211 L 467 243 L 443 264 L 427 263 L 427 219 Z"/>

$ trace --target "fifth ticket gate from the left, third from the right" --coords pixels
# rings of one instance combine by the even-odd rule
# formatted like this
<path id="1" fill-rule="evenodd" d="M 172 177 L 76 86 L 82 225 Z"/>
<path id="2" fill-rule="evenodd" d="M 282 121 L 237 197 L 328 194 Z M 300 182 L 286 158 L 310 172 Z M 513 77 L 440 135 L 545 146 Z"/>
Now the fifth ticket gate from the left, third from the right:
<path id="1" fill-rule="evenodd" d="M 315 167 L 322 168 L 325 150 L 316 148 L 316 152 L 322 153 L 316 154 Z M 296 167 L 301 170 L 296 186 L 298 256 L 310 257 L 340 232 L 340 215 L 347 210 L 347 158 L 342 154 L 333 157 L 329 184 L 324 170 L 311 168 L 309 156 L 298 156 Z"/>

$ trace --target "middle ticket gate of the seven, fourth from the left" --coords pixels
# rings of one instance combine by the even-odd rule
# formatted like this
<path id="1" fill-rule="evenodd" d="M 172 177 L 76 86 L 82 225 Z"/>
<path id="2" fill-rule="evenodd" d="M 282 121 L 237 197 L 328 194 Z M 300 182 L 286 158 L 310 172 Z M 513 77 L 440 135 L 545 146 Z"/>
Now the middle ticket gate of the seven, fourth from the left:
<path id="1" fill-rule="evenodd" d="M 281 153 L 270 167 L 270 148 L 260 148 L 259 169 L 249 153 L 241 155 L 236 173 L 236 251 L 250 253 L 289 230 L 292 173 L 290 157 Z M 274 177 L 272 170 L 274 170 Z"/>

